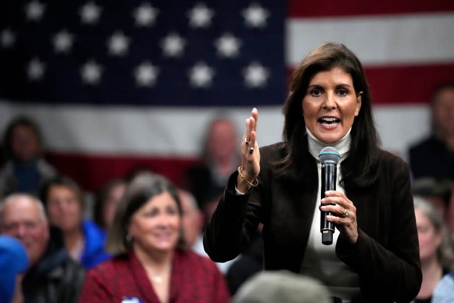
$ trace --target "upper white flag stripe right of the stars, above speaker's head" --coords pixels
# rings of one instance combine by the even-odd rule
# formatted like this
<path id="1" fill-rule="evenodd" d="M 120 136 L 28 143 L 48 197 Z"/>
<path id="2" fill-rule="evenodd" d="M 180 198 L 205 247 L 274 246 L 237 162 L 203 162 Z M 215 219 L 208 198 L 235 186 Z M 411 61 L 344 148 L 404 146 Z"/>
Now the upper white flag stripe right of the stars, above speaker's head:
<path id="1" fill-rule="evenodd" d="M 344 43 L 363 65 L 454 61 L 454 13 L 292 18 L 287 64 L 296 66 L 316 45 Z"/>

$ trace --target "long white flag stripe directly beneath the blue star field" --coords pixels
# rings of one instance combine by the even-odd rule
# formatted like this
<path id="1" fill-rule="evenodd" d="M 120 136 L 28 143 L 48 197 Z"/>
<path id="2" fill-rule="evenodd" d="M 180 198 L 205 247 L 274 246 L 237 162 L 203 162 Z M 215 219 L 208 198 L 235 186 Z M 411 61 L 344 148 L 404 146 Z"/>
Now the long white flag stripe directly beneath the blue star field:
<path id="1" fill-rule="evenodd" d="M 196 157 L 209 121 L 217 113 L 229 115 L 240 137 L 249 108 L 137 108 L 94 106 L 18 106 L 0 102 L 0 129 L 17 114 L 40 125 L 47 149 L 94 155 Z M 260 146 L 281 140 L 281 108 L 259 107 Z M 405 157 L 410 143 L 429 133 L 428 108 L 380 106 L 375 117 L 383 148 Z M 415 127 L 415 121 L 418 127 Z"/>

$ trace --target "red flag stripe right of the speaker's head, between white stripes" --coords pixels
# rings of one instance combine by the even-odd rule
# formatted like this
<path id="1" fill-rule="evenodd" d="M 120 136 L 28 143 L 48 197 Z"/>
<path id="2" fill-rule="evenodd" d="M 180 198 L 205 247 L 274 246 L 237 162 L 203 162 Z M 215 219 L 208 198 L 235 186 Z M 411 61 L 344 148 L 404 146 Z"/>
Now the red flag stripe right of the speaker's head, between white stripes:
<path id="1" fill-rule="evenodd" d="M 454 82 L 452 71 L 454 63 L 364 67 L 374 105 L 428 103 L 436 85 Z"/>

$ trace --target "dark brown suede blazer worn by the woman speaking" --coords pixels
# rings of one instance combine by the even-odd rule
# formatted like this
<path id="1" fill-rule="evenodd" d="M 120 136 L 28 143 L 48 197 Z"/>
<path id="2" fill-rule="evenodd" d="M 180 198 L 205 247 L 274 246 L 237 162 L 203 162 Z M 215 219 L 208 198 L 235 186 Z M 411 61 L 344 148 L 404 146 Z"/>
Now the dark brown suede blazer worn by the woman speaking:
<path id="1" fill-rule="evenodd" d="M 264 269 L 300 272 L 320 194 L 317 166 L 307 153 L 299 182 L 277 177 L 273 163 L 283 157 L 280 146 L 260 148 L 259 185 L 248 193 L 236 194 L 238 173 L 231 176 L 205 228 L 204 247 L 213 261 L 238 256 L 261 222 Z M 410 302 L 419 292 L 422 274 L 409 168 L 380 150 L 378 169 L 377 180 L 367 188 L 343 181 L 357 208 L 359 237 L 355 245 L 338 238 L 336 255 L 359 274 L 361 297 L 353 302 Z"/>

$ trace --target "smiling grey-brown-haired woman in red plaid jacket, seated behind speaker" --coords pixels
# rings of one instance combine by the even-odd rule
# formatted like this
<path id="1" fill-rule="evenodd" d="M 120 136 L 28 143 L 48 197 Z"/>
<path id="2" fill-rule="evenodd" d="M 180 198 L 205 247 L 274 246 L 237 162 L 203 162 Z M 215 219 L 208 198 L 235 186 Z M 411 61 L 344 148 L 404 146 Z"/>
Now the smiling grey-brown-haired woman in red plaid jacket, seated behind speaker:
<path id="1" fill-rule="evenodd" d="M 229 302 L 216 265 L 186 249 L 182 216 L 169 181 L 155 174 L 135 178 L 107 236 L 115 257 L 88 272 L 80 302 Z"/>

